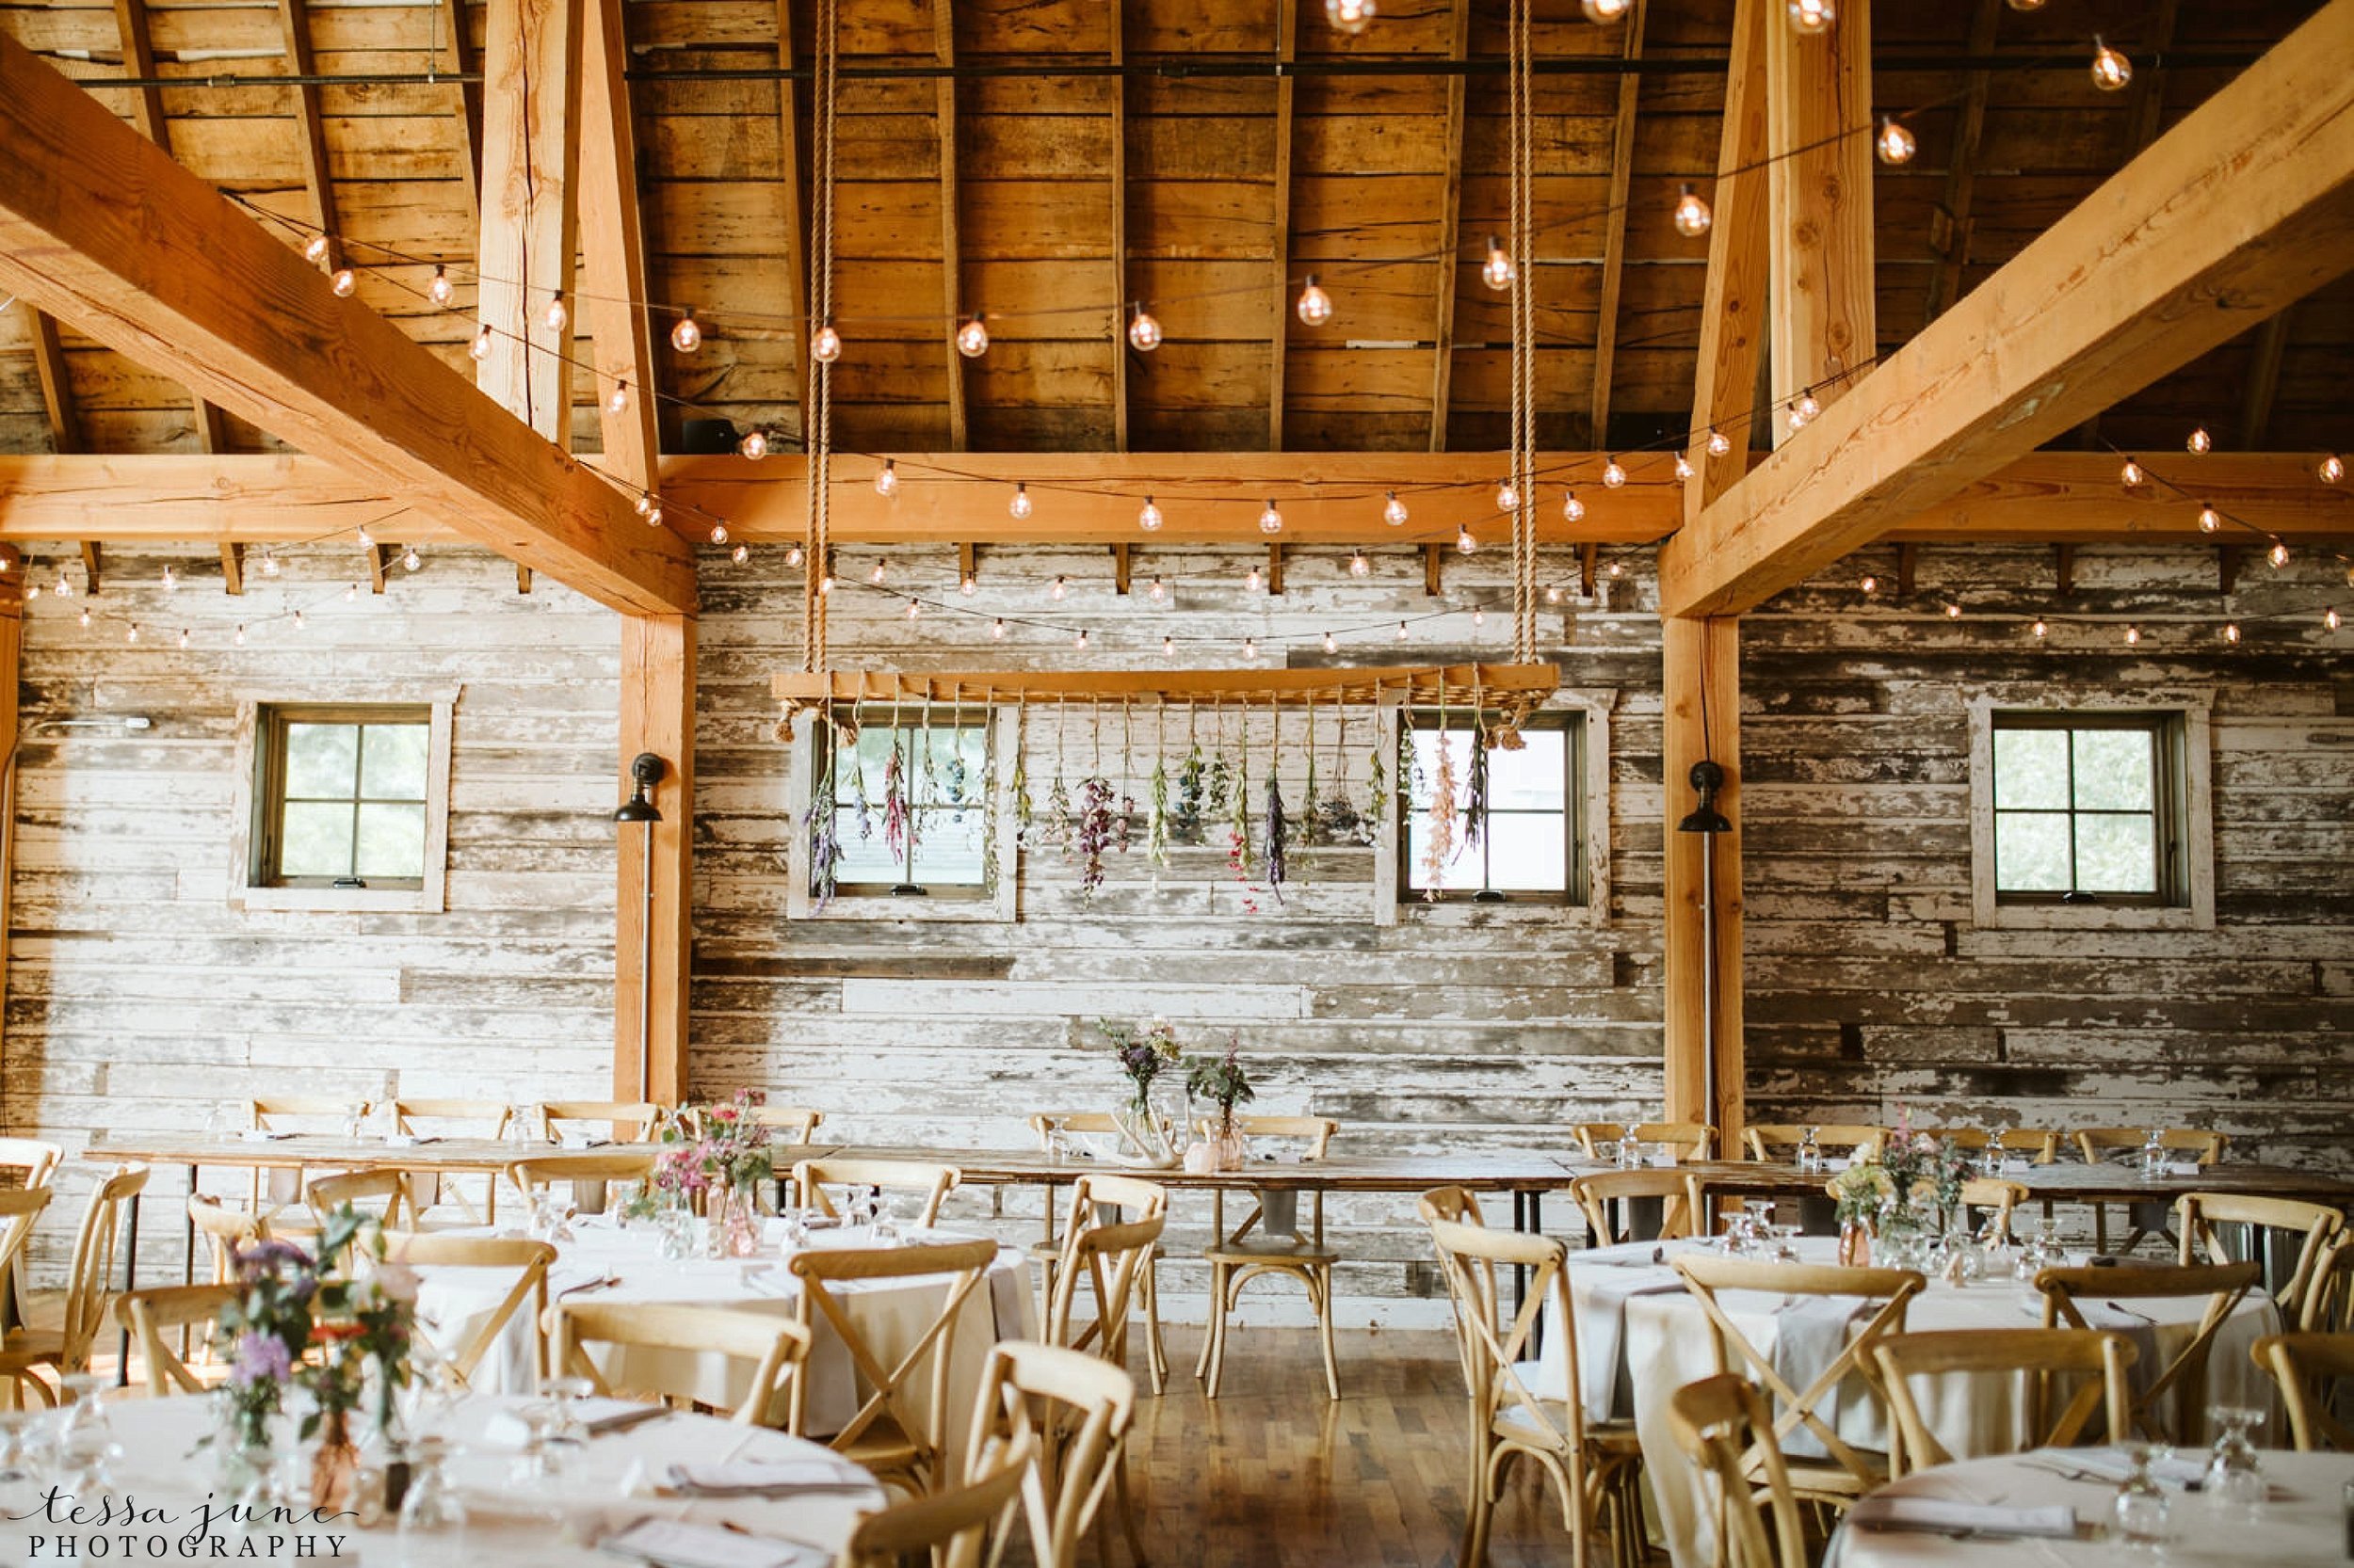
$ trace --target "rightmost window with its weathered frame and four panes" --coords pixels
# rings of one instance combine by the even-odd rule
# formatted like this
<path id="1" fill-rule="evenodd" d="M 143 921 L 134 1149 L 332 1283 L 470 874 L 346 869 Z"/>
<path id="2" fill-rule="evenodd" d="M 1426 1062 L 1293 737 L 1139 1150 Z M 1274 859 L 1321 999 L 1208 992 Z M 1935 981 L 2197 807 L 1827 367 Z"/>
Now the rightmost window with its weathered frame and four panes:
<path id="1" fill-rule="evenodd" d="M 2213 925 L 2206 709 L 1973 716 L 1982 925 Z"/>

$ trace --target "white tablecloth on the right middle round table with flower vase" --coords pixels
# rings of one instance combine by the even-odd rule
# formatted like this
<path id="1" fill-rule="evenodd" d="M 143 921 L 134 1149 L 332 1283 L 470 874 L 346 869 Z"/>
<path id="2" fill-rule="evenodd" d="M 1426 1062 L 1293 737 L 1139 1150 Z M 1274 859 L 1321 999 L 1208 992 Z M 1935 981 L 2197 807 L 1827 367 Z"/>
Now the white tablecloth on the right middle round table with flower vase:
<path id="1" fill-rule="evenodd" d="M 1704 1243 L 1627 1243 L 1570 1255 L 1570 1311 L 1577 1318 L 1577 1375 L 1589 1420 L 1631 1415 L 1643 1446 L 1643 1469 L 1650 1476 L 1660 1509 L 1660 1530 L 1676 1568 L 1695 1568 L 1714 1556 L 1714 1540 L 1693 1486 L 1693 1471 L 1667 1429 L 1667 1396 L 1716 1370 L 1709 1344 L 1709 1321 L 1669 1267 L 1676 1253 Z M 1836 1241 L 1810 1236 L 1801 1243 L 1806 1262 L 1827 1264 Z M 1662 1262 L 1653 1262 L 1664 1255 Z M 1798 1300 L 1747 1290 L 1718 1297 L 1725 1314 L 1749 1342 L 1773 1356 L 1791 1387 L 1808 1387 L 1838 1354 L 1853 1326 L 1855 1302 Z M 1794 1309 L 1796 1307 L 1796 1309 Z M 2086 1304 L 2090 1309 L 2090 1304 Z M 2156 1326 L 2104 1314 L 2095 1328 L 2116 1328 L 2135 1342 L 2135 1375 L 2154 1375 L 2189 1342 L 2206 1314 L 2206 1297 L 2142 1300 L 2133 1309 L 2156 1318 Z M 1869 1316 L 1869 1314 L 1867 1314 Z M 2114 1316 L 2114 1321 L 2109 1321 Z M 1904 1314 L 1904 1328 L 1928 1333 L 1940 1328 L 2029 1328 L 2043 1321 L 2020 1297 L 2010 1278 L 1980 1281 L 1968 1288 L 1930 1281 Z M 2279 1314 L 2262 1295 L 2250 1295 L 2217 1330 L 2208 1354 L 2206 1401 L 2272 1408 L 2272 1382 L 2255 1368 L 2248 1347 L 2279 1333 Z M 1568 1396 L 1568 1340 L 1551 1302 L 1544 1318 L 1544 1354 L 1530 1368 L 1530 1387 L 1544 1398 Z M 1735 1370 L 1742 1370 L 1735 1366 Z M 1987 1453 L 2022 1441 L 2013 1436 L 2024 1420 L 2022 1384 L 2013 1377 L 1937 1377 L 1916 1384 L 1921 1415 L 1954 1457 Z M 1824 1410 L 1829 1415 L 1829 1410 Z M 1838 1389 L 1836 1431 L 1860 1446 L 1888 1448 L 1888 1413 L 1857 1380 Z M 1798 1443 L 1794 1443 L 1796 1448 Z"/>

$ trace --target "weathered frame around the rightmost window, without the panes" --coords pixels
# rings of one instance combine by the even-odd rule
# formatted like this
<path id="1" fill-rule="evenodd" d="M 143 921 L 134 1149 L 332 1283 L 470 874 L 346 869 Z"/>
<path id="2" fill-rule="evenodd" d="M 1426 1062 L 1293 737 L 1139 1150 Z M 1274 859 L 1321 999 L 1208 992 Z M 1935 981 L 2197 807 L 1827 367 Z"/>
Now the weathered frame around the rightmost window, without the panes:
<path id="1" fill-rule="evenodd" d="M 2213 930 L 2210 704 L 2208 692 L 2069 695 L 2055 699 L 2039 690 L 2024 699 L 2008 692 L 1973 697 L 1970 906 L 1977 925 L 1999 930 Z M 2152 735 L 2156 749 L 2152 817 L 2159 862 L 2154 895 L 2095 892 L 2072 897 L 2057 890 L 2003 890 L 1996 885 L 1996 730 L 2147 730 Z M 2072 845 L 2079 815 L 2072 789 L 2067 805 Z"/>

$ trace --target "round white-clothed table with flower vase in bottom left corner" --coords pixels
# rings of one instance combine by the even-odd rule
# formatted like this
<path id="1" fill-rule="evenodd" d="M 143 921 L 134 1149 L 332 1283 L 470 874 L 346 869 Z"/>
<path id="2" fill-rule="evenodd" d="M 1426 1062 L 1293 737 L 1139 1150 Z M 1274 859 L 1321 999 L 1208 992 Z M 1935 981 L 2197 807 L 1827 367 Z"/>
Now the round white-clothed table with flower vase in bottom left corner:
<path id="1" fill-rule="evenodd" d="M 221 1462 L 205 1443 L 212 1398 L 108 1401 L 106 1486 L 59 1490 L 56 1474 L 0 1481 L 0 1561 L 322 1561 L 370 1568 L 579 1568 L 586 1561 L 666 1561 L 709 1568 L 824 1568 L 883 1488 L 824 1446 L 711 1415 L 661 1410 L 612 1431 L 551 1446 L 525 1464 L 520 1396 L 471 1394 L 419 1420 L 447 1446 L 443 1471 L 461 1526 L 400 1530 L 398 1519 L 318 1519 L 308 1497 L 290 1514 L 231 1516 Z M 56 1420 L 45 1417 L 45 1420 Z M 287 1467 L 301 1479 L 301 1457 Z M 629 1542 L 664 1549 L 631 1552 Z"/>

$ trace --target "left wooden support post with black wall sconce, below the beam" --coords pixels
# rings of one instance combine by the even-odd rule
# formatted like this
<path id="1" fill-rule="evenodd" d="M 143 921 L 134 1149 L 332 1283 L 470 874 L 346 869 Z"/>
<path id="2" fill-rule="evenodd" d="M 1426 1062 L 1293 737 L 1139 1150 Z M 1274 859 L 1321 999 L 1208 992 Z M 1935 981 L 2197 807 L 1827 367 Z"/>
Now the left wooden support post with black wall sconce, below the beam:
<path id="1" fill-rule="evenodd" d="M 652 751 L 661 822 L 617 824 L 612 1092 L 659 1104 L 687 1092 L 687 972 L 692 961 L 694 843 L 694 622 L 683 614 L 621 617 L 621 789 L 629 763 Z M 624 798 L 624 796 L 617 796 Z M 647 878 L 647 841 L 652 878 Z M 640 1017 L 645 1034 L 640 1038 Z M 643 1048 L 643 1050 L 640 1050 Z"/>

